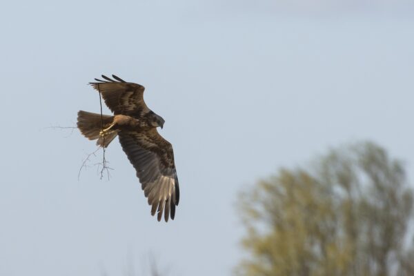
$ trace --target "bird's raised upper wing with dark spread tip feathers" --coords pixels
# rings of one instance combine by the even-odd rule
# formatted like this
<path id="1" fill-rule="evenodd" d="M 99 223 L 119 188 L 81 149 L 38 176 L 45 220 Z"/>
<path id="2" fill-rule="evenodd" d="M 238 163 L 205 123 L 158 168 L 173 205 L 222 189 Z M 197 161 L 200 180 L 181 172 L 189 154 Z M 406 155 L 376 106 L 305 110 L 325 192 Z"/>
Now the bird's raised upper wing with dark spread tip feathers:
<path id="1" fill-rule="evenodd" d="M 97 82 L 89 84 L 101 92 L 106 106 L 117 114 L 140 117 L 149 110 L 144 102 L 144 86 L 137 83 L 126 82 L 123 79 L 112 75 L 110 79 L 102 75 L 101 79 L 95 79 Z"/>

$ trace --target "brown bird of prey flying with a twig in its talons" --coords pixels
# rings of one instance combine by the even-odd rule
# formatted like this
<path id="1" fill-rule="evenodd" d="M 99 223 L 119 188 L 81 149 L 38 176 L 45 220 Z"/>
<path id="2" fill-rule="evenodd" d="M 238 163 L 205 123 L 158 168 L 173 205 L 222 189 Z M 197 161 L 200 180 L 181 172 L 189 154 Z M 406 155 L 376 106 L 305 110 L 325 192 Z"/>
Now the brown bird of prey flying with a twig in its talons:
<path id="1" fill-rule="evenodd" d="M 144 86 L 112 77 L 102 75 L 103 80 L 89 84 L 101 93 L 114 115 L 81 110 L 77 127 L 83 136 L 97 139 L 97 145 L 105 148 L 118 136 L 152 206 L 151 215 L 157 213 L 158 221 L 163 213 L 165 221 L 174 219 L 179 186 L 172 146 L 157 132 L 157 127 L 164 126 L 164 119 L 146 106 Z"/>

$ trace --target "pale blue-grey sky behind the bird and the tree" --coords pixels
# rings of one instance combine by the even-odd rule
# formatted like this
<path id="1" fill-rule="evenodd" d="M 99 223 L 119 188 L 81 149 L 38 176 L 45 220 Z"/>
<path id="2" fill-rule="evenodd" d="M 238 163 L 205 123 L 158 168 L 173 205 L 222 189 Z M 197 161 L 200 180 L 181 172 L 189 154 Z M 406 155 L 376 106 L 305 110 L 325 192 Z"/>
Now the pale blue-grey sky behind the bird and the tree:
<path id="1" fill-rule="evenodd" d="M 0 275 L 230 275 L 237 195 L 330 147 L 375 141 L 414 179 L 412 1 L 8 1 L 0 10 Z M 87 85 L 146 87 L 180 204 L 150 216 L 117 141 L 100 179 L 75 126 Z M 104 108 L 104 113 L 109 110 Z M 130 275 L 129 274 L 129 275 Z"/>

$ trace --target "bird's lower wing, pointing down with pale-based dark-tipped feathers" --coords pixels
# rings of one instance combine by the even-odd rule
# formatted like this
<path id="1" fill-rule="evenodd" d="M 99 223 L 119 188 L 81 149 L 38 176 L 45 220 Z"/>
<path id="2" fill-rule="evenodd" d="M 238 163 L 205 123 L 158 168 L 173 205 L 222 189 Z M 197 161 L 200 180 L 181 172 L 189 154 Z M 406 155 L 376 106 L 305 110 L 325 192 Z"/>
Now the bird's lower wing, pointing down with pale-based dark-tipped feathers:
<path id="1" fill-rule="evenodd" d="M 119 142 L 131 164 L 137 170 L 144 195 L 152 206 L 151 215 L 157 212 L 158 221 L 174 219 L 179 201 L 177 171 L 171 144 L 156 128 L 144 132 L 121 131 Z"/>

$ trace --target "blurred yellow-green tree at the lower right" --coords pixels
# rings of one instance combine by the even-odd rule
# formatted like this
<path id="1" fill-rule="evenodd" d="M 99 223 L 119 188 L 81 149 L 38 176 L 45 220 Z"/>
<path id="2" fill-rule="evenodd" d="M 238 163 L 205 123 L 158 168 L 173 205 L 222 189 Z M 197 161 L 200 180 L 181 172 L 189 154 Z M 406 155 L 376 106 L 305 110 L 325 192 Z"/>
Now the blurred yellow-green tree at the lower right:
<path id="1" fill-rule="evenodd" d="M 413 190 L 373 143 L 282 169 L 239 197 L 243 276 L 414 275 Z"/>

